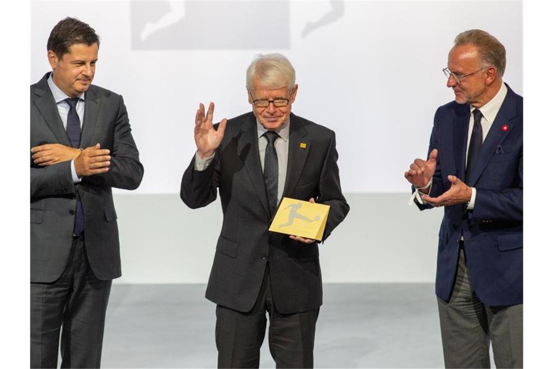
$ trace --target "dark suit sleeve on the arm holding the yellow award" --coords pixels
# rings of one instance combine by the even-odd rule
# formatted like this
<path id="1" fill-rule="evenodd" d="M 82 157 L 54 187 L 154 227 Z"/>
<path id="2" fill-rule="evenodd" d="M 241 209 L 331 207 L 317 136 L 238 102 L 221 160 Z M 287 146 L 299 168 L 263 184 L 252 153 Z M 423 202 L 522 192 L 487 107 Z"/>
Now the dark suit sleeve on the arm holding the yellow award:
<path id="1" fill-rule="evenodd" d="M 338 153 L 336 149 L 335 133 L 333 132 L 321 170 L 319 181 L 320 195 L 317 198 L 319 204 L 330 206 L 322 241 L 325 241 L 326 238 L 331 235 L 331 232 L 345 219 L 348 211 L 350 211 L 350 206 L 348 206 L 345 197 L 342 195 L 337 160 Z"/>

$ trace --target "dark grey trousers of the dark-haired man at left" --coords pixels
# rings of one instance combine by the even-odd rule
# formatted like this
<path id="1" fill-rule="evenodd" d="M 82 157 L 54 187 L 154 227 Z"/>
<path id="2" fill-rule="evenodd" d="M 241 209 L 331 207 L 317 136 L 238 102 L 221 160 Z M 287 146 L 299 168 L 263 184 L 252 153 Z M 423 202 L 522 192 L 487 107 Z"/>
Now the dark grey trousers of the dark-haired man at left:
<path id="1" fill-rule="evenodd" d="M 74 237 L 61 277 L 30 285 L 30 367 L 57 367 L 60 345 L 62 368 L 99 368 L 110 288 L 91 270 L 84 237 Z"/>

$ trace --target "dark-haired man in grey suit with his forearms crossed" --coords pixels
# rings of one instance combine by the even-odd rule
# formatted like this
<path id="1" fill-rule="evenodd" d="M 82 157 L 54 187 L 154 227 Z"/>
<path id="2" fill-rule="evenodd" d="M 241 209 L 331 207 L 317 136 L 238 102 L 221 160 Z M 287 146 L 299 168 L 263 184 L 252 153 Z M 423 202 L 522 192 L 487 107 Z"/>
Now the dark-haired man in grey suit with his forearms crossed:
<path id="1" fill-rule="evenodd" d="M 30 365 L 99 367 L 111 280 L 121 276 L 111 189 L 143 168 L 120 95 L 91 85 L 100 41 L 74 18 L 48 39 L 30 86 Z"/>

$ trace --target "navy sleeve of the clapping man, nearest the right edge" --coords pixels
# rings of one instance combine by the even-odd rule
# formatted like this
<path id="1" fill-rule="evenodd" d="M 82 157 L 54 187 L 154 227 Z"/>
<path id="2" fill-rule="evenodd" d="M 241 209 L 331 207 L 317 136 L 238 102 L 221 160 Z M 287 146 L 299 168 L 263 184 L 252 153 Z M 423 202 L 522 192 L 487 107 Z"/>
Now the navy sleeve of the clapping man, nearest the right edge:
<path id="1" fill-rule="evenodd" d="M 473 220 L 523 221 L 523 149 L 517 165 L 517 186 L 503 190 L 477 187 Z"/>

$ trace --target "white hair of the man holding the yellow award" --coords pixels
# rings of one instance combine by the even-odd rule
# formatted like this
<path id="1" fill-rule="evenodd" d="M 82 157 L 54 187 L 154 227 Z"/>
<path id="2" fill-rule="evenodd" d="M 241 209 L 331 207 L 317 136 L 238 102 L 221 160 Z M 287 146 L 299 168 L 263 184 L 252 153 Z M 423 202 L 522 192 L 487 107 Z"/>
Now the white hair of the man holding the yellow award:
<path id="1" fill-rule="evenodd" d="M 252 92 L 254 75 L 260 77 L 261 83 L 267 87 L 293 88 L 296 72 L 289 59 L 282 54 L 258 54 L 246 70 L 246 88 Z"/>

